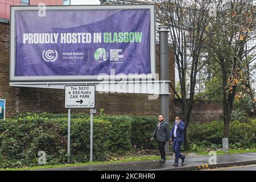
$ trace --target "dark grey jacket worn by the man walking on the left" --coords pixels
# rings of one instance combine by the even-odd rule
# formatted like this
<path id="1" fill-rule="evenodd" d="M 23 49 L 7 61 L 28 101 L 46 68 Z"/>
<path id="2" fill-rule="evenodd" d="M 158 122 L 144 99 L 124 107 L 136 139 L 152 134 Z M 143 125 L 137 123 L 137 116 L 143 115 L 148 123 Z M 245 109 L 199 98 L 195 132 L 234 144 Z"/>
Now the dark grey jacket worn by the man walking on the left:
<path id="1" fill-rule="evenodd" d="M 157 123 L 152 137 L 156 138 L 159 142 L 167 142 L 170 140 L 169 123 L 162 121 L 159 128 Z"/>

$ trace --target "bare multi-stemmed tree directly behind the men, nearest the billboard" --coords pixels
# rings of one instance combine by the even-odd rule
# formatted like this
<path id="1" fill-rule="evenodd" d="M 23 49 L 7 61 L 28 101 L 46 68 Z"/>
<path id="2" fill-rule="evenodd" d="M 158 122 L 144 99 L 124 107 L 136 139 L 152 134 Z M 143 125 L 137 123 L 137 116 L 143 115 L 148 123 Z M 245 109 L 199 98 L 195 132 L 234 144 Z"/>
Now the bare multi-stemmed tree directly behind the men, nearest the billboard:
<path id="1" fill-rule="evenodd" d="M 210 1 L 154 1 L 159 22 L 170 27 L 170 42 L 174 48 L 179 72 L 179 84 L 183 119 L 186 123 L 184 147 L 188 150 L 188 128 L 195 96 L 197 73 L 205 62 L 200 59 L 213 36 L 214 27 L 206 28 L 212 19 L 209 16 Z M 212 33 L 209 33 L 212 32 Z M 189 89 L 186 88 L 189 83 Z M 172 88 L 175 88 L 172 86 Z M 177 96 L 179 97 L 179 96 Z"/>

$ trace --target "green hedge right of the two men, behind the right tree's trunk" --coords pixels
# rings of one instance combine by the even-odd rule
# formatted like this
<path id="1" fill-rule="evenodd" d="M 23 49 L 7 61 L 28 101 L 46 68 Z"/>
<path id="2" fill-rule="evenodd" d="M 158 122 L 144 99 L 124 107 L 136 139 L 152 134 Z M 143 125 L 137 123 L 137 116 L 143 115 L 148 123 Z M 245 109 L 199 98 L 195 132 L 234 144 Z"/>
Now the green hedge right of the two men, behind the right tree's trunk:
<path id="1" fill-rule="evenodd" d="M 191 150 L 205 148 L 221 148 L 223 137 L 223 121 L 208 123 L 192 122 L 189 127 Z M 254 148 L 256 146 L 256 120 L 249 122 L 232 121 L 230 123 L 229 147 Z"/>

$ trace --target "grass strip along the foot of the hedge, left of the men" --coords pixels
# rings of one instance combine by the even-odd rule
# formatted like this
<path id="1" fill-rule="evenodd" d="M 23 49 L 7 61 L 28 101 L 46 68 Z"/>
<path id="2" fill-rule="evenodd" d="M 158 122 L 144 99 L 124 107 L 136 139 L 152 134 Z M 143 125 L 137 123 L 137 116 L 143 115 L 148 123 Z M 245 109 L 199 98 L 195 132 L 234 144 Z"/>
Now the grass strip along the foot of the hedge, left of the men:
<path id="1" fill-rule="evenodd" d="M 166 157 L 170 159 L 170 156 Z M 125 162 L 138 162 L 145 160 L 159 160 L 159 155 L 145 155 L 145 156 L 122 156 L 121 158 L 110 158 L 111 161 L 108 162 L 88 162 L 88 163 L 75 163 L 75 164 L 60 164 L 60 165 L 46 165 L 46 166 L 36 166 L 27 168 L 2 168 L 0 171 L 27 171 L 35 169 L 47 169 L 47 168 L 62 168 L 62 167 L 74 167 L 74 166 L 90 166 L 97 164 L 112 164 L 112 163 L 125 163 Z"/>

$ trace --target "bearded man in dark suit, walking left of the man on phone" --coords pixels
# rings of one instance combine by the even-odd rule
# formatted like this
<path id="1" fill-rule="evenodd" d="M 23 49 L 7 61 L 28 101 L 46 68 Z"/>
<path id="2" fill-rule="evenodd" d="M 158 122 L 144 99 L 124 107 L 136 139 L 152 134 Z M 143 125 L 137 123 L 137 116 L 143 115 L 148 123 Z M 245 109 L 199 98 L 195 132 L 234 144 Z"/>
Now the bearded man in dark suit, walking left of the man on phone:
<path id="1" fill-rule="evenodd" d="M 158 142 L 158 148 L 161 154 L 160 163 L 166 162 L 166 151 L 164 150 L 164 146 L 166 142 L 170 140 L 170 130 L 169 130 L 169 123 L 164 121 L 163 114 L 160 114 L 158 117 L 159 123 L 156 124 L 155 131 L 152 134 L 151 141 L 156 138 Z"/>

